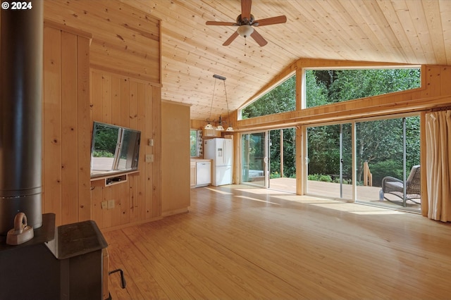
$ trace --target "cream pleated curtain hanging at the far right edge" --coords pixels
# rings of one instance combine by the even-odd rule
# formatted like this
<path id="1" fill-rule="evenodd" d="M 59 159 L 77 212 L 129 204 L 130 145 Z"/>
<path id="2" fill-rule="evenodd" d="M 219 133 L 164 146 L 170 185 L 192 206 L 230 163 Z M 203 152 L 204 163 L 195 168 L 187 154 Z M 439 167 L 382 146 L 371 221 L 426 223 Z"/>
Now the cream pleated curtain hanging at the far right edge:
<path id="1" fill-rule="evenodd" d="M 451 111 L 426 113 L 428 218 L 451 220 Z"/>

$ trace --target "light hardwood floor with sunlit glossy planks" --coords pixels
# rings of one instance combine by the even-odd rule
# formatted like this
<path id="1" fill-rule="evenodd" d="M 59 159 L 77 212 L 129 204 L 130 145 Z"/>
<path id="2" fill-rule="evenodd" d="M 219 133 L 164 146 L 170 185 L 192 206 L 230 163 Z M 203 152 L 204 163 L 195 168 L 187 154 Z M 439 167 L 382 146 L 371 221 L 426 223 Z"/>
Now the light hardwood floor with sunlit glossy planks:
<path id="1" fill-rule="evenodd" d="M 113 299 L 450 299 L 451 224 L 244 185 L 105 232 Z"/>

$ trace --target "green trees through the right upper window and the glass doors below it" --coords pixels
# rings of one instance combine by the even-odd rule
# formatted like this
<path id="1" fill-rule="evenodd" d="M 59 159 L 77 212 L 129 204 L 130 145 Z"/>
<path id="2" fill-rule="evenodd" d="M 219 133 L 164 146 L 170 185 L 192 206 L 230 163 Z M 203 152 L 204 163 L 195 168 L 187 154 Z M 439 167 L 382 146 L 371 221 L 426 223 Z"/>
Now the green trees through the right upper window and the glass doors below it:
<path id="1" fill-rule="evenodd" d="M 366 96 L 386 94 L 420 85 L 419 69 L 378 70 L 312 70 L 316 85 L 331 104 Z M 307 82 L 307 80 L 306 80 Z M 308 92 L 308 91 L 307 91 Z M 307 98 L 307 106 L 318 105 Z M 419 118 L 407 118 L 407 169 L 419 163 Z M 309 129 L 309 174 L 337 174 L 340 132 L 337 126 Z M 373 184 L 382 177 L 402 175 L 402 119 L 377 120 L 357 123 L 357 180 L 362 181 L 363 165 L 368 162 L 373 173 Z M 314 137 L 311 137 L 314 135 Z M 350 151 L 351 139 L 343 139 L 344 152 Z M 350 152 L 349 152 L 350 153 Z M 344 158 L 344 173 L 352 176 L 349 156 Z"/>

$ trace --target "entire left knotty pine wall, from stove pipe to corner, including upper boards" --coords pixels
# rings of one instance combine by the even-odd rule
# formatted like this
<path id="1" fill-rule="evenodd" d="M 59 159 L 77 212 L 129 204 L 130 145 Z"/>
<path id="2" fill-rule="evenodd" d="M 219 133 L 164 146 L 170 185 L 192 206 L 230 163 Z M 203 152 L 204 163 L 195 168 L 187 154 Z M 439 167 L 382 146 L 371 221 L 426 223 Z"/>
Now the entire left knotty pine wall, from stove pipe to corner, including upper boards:
<path id="1" fill-rule="evenodd" d="M 43 212 L 101 228 L 161 218 L 160 20 L 116 0 L 45 0 L 44 20 Z M 128 182 L 91 187 L 94 120 L 141 130 Z"/>

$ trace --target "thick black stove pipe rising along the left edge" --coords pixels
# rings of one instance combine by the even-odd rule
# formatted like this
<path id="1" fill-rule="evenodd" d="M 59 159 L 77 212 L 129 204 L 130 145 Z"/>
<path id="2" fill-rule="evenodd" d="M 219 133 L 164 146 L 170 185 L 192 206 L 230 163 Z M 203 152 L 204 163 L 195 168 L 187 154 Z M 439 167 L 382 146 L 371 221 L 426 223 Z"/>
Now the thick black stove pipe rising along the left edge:
<path id="1" fill-rule="evenodd" d="M 42 226 L 43 1 L 2 0 L 0 13 L 0 235 L 6 235 L 19 211 L 28 225 Z"/>

